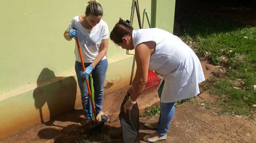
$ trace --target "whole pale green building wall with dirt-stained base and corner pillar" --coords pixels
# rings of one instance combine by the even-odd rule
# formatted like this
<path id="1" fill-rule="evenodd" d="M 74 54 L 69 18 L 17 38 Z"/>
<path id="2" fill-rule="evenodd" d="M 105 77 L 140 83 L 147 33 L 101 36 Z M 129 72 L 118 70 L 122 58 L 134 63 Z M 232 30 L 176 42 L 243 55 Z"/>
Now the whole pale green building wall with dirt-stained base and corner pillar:
<path id="1" fill-rule="evenodd" d="M 109 33 L 119 17 L 131 20 L 134 29 L 138 29 L 132 0 L 98 1 L 104 8 L 103 20 Z M 155 27 L 172 32 L 174 6 L 167 5 L 175 4 L 175 0 L 139 0 L 141 18 L 144 8 L 149 16 L 152 14 L 152 3 L 157 4 Z M 2 2 L 0 139 L 81 106 L 74 71 L 75 40 L 66 41 L 63 33 L 74 16 L 83 14 L 85 7 L 82 0 Z M 161 18 L 166 11 L 169 19 Z M 146 20 L 144 17 L 144 28 L 148 28 Z M 107 56 L 105 94 L 129 85 L 136 67 L 133 55 L 126 54 L 112 41 Z"/>

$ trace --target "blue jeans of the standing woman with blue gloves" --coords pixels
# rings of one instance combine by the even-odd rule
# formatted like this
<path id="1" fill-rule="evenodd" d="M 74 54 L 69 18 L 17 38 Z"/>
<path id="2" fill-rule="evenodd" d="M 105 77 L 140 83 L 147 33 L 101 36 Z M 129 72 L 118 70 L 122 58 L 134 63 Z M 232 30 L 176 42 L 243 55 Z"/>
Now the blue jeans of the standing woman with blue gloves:
<path id="1" fill-rule="evenodd" d="M 85 68 L 91 63 L 85 63 Z M 93 79 L 93 89 L 94 89 L 94 102 L 95 102 L 95 112 L 100 113 L 102 109 L 103 97 L 104 97 L 104 82 L 106 76 L 106 70 L 108 68 L 108 60 L 104 59 L 100 61 L 95 69 L 92 70 Z M 83 110 L 85 112 L 85 119 L 92 119 L 92 105 L 89 99 L 89 92 L 86 85 L 85 78 L 82 78 L 83 68 L 82 63 L 79 61 L 75 62 L 75 71 L 81 91 L 81 100 L 83 105 Z"/>

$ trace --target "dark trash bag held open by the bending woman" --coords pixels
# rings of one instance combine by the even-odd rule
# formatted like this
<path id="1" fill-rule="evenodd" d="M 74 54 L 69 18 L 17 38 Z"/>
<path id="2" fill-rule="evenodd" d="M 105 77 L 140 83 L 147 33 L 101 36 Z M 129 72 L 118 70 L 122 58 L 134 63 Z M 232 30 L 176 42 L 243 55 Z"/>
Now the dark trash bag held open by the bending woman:
<path id="1" fill-rule="evenodd" d="M 124 97 L 119 113 L 123 132 L 123 143 L 133 143 L 140 130 L 140 117 L 137 103 L 132 106 L 131 110 L 127 110 L 127 112 L 124 113 L 124 104 L 129 99 L 129 96 L 128 94 Z"/>

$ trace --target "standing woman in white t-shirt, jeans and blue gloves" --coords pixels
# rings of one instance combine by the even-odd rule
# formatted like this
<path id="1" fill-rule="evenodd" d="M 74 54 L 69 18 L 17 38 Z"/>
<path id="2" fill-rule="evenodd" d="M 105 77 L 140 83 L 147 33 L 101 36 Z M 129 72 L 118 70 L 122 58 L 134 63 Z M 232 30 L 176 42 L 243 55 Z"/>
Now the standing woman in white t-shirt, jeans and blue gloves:
<path id="1" fill-rule="evenodd" d="M 75 16 L 64 32 L 66 40 L 78 37 L 86 70 L 83 72 L 77 44 L 75 43 L 75 71 L 81 91 L 81 100 L 86 120 L 92 119 L 92 108 L 86 86 L 86 78 L 92 74 L 95 111 L 97 118 L 108 121 L 106 114 L 101 112 L 104 97 L 104 81 L 108 60 L 108 26 L 102 18 L 103 9 L 96 0 L 88 1 L 85 14 Z"/>

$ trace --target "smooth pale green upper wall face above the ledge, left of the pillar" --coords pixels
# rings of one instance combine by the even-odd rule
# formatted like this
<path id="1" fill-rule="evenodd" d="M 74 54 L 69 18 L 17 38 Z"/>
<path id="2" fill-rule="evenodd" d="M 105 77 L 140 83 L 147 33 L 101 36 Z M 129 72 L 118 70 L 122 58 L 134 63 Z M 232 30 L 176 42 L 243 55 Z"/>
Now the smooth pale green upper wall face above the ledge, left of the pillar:
<path id="1" fill-rule="evenodd" d="M 56 75 L 74 70 L 75 41 L 66 41 L 63 32 L 76 15 L 85 11 L 84 0 L 14 0 L 0 6 L 0 93 L 36 82 L 44 68 Z M 99 0 L 104 8 L 103 19 L 112 30 L 119 17 L 130 19 L 131 0 Z M 151 3 L 140 0 L 150 13 Z M 136 14 L 134 17 L 137 20 Z M 136 24 L 135 24 L 136 23 Z M 134 22 L 137 28 L 137 21 Z M 125 54 L 109 42 L 108 58 Z M 45 75 L 47 78 L 47 75 Z"/>

